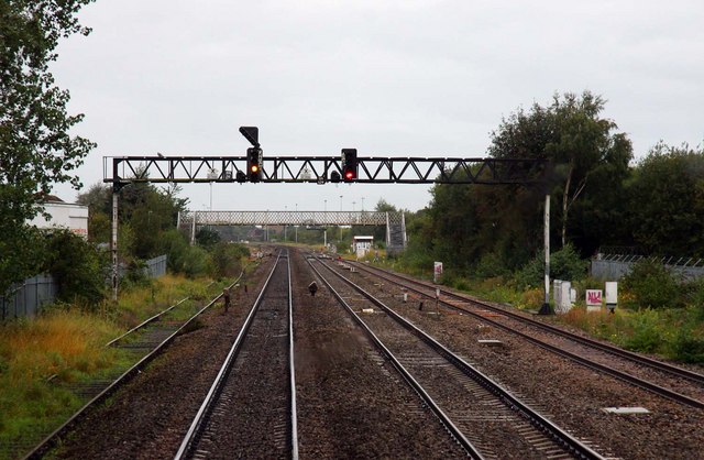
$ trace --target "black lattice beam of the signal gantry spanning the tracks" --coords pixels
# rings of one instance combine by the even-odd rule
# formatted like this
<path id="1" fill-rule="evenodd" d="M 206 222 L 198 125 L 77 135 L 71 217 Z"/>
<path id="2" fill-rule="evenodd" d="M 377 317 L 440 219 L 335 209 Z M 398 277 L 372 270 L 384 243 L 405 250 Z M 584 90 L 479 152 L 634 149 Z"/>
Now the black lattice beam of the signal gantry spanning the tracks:
<path id="1" fill-rule="evenodd" d="M 535 184 L 547 162 L 371 156 L 359 157 L 358 164 L 353 183 Z M 117 188 L 147 182 L 234 183 L 245 167 L 245 156 L 114 156 L 103 158 L 103 182 Z M 342 173 L 339 156 L 264 156 L 261 182 L 324 184 L 333 172 Z"/>

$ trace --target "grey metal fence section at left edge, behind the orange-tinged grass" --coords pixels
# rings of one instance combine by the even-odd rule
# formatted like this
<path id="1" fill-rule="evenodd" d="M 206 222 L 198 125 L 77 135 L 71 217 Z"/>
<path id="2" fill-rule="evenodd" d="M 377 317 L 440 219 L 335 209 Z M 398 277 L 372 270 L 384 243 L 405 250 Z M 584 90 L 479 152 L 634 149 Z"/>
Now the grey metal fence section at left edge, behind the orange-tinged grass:
<path id="1" fill-rule="evenodd" d="M 2 320 L 36 315 L 42 305 L 54 302 L 57 291 L 51 275 L 36 275 L 13 285 L 7 297 L 0 296 Z"/>

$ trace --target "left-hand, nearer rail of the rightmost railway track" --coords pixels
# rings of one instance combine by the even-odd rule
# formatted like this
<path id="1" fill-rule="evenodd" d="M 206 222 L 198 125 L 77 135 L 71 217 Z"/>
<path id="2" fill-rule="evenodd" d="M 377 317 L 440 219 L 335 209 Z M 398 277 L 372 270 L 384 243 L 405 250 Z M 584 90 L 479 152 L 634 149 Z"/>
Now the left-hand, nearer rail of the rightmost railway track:
<path id="1" fill-rule="evenodd" d="M 371 271 L 369 271 L 369 272 L 373 273 Z M 397 285 L 403 285 L 403 284 L 400 284 L 398 282 L 395 282 L 395 281 L 388 278 L 388 277 L 381 276 L 378 274 L 376 274 L 376 276 L 380 276 L 381 278 L 387 280 L 387 281 L 389 281 L 392 283 L 395 283 Z M 399 277 L 405 278 L 403 276 L 399 276 Z M 429 287 L 425 283 L 418 283 L 418 284 L 420 284 L 420 285 L 422 285 L 425 287 Z M 435 296 L 432 296 L 430 294 L 427 294 L 427 293 L 425 293 L 422 291 L 419 291 L 419 289 L 417 289 L 415 287 L 411 287 L 411 286 L 408 286 L 408 285 L 403 285 L 403 286 L 408 288 L 408 289 L 410 289 L 410 291 L 413 291 L 413 292 L 415 292 L 415 293 L 417 293 L 417 294 L 420 294 L 420 295 L 422 295 L 425 297 L 435 299 Z M 441 292 L 443 292 L 443 291 L 441 291 Z M 460 298 L 462 298 L 462 297 L 460 297 Z M 466 302 L 474 302 L 474 300 L 468 299 L 468 298 L 462 298 L 462 299 L 466 300 Z M 601 363 L 591 361 L 591 360 L 588 360 L 586 358 L 580 357 L 579 354 L 569 352 L 566 350 L 562 350 L 562 349 L 560 349 L 560 348 L 558 348 L 556 346 L 552 346 L 550 343 L 547 343 L 547 342 L 543 342 L 543 341 L 541 341 L 539 339 L 536 339 L 535 337 L 531 337 L 531 336 L 529 336 L 529 335 L 527 335 L 525 332 L 521 332 L 521 331 L 518 331 L 516 329 L 513 329 L 509 326 L 503 325 L 503 324 L 501 324 L 498 321 L 495 321 L 495 320 L 493 320 L 491 318 L 482 316 L 482 315 L 480 315 L 480 314 L 477 314 L 475 311 L 459 307 L 457 305 L 449 304 L 449 303 L 443 302 L 441 299 L 439 299 L 439 302 L 440 302 L 440 304 L 442 304 L 447 308 L 454 309 L 457 311 L 462 311 L 462 313 L 468 314 L 468 315 L 472 315 L 473 317 L 475 317 L 476 319 L 479 319 L 481 321 L 487 322 L 487 324 L 490 324 L 490 325 L 492 325 L 492 326 L 494 326 L 496 328 L 503 329 L 503 330 L 505 330 L 507 332 L 517 335 L 518 337 L 520 337 L 520 338 L 522 338 L 525 340 L 528 340 L 529 342 L 531 342 L 531 343 L 534 343 L 534 344 L 536 344 L 536 346 L 538 346 L 538 347 L 540 347 L 542 349 L 551 351 L 551 352 L 553 352 L 556 354 L 559 354 L 559 355 L 561 355 L 563 358 L 566 358 L 566 359 L 570 359 L 572 361 L 579 362 L 580 364 L 585 365 L 585 366 L 587 366 L 587 368 L 590 368 L 592 370 L 603 372 L 605 374 L 608 374 L 610 376 L 614 376 L 616 379 L 619 379 L 622 381 L 625 381 L 625 382 L 628 382 L 628 383 L 630 383 L 632 385 L 636 385 L 636 386 L 638 386 L 640 388 L 644 388 L 644 390 L 647 390 L 647 391 L 649 391 L 651 393 L 654 393 L 654 394 L 657 394 L 659 396 L 667 397 L 667 398 L 669 398 L 671 401 L 674 401 L 674 402 L 678 402 L 678 403 L 681 403 L 681 404 L 684 404 L 684 405 L 688 405 L 688 406 L 691 406 L 691 407 L 696 407 L 696 408 L 700 408 L 700 409 L 704 408 L 704 402 L 701 402 L 698 399 L 694 399 L 694 398 L 689 397 L 686 395 L 683 395 L 681 393 L 676 393 L 676 392 L 674 392 L 672 390 L 669 390 L 669 388 L 666 388 L 663 386 L 657 385 L 657 384 L 651 383 L 649 381 L 646 381 L 646 380 L 642 380 L 642 379 L 638 379 L 638 377 L 636 377 L 634 375 L 630 375 L 630 374 L 628 374 L 626 372 L 622 372 L 622 371 L 618 371 L 616 369 L 609 368 L 609 366 L 607 366 L 605 364 L 601 364 Z M 482 306 L 486 305 L 486 304 L 483 304 L 483 303 L 477 303 L 477 304 L 480 304 Z M 496 307 L 493 307 L 492 309 L 495 310 L 495 311 L 502 313 L 502 314 L 506 314 L 507 313 L 506 310 L 501 309 L 501 308 L 496 308 Z M 506 315 L 506 316 L 510 316 L 510 315 Z M 534 320 L 530 320 L 528 318 L 524 318 L 520 315 L 517 315 L 517 316 L 518 316 L 519 319 L 525 319 L 527 321 L 534 321 Z M 538 321 L 535 321 L 535 322 L 538 322 Z M 572 338 L 572 337 L 569 337 L 569 338 Z"/>

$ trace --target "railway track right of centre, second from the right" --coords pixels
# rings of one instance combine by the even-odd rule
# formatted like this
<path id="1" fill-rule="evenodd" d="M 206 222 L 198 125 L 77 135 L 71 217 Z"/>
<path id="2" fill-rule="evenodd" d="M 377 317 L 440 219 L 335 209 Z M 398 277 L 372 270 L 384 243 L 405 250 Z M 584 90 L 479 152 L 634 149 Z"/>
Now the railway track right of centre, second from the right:
<path id="1" fill-rule="evenodd" d="M 336 270 L 309 264 L 470 457 L 603 458 Z"/>

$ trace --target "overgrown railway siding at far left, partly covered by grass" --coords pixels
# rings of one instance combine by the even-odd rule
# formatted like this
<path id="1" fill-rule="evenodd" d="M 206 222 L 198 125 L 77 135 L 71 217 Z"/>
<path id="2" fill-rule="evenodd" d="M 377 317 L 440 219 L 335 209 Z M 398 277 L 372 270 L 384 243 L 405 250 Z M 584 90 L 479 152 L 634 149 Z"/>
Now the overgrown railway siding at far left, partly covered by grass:
<path id="1" fill-rule="evenodd" d="M 244 270 L 240 276 L 229 285 L 229 288 L 239 283 L 243 275 Z M 142 321 L 125 333 L 106 343 L 106 347 L 119 347 L 128 350 L 132 360 L 135 361 L 135 364 L 127 371 L 121 373 L 117 372 L 109 375 L 107 379 L 84 384 L 69 385 L 70 391 L 88 399 L 88 402 L 74 413 L 74 415 L 62 426 L 48 434 L 38 445 L 31 448 L 31 450 L 25 453 L 24 458 L 42 458 L 46 452 L 48 452 L 48 450 L 56 446 L 61 438 L 65 436 L 90 409 L 101 404 L 118 388 L 127 384 L 134 375 L 141 372 L 141 370 L 163 352 L 179 333 L 187 330 L 187 328 L 194 324 L 196 318 L 212 307 L 221 296 L 221 293 L 218 294 L 205 306 L 199 306 L 197 303 L 188 305 L 190 297 L 185 297 L 151 318 Z M 179 307 L 184 308 L 184 311 L 179 311 L 179 316 L 184 317 L 183 319 L 169 321 L 164 320 L 169 314 L 173 314 Z"/>

